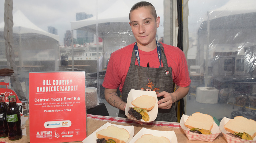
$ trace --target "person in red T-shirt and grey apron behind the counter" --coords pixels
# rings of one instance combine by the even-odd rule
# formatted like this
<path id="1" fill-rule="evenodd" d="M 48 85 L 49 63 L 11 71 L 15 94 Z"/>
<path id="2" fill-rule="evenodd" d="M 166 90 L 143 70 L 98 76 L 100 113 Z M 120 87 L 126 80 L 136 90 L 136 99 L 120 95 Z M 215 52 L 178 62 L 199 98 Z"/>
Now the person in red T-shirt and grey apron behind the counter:
<path id="1" fill-rule="evenodd" d="M 119 109 L 118 117 L 126 117 L 124 110 L 131 89 L 155 90 L 159 107 L 155 120 L 176 122 L 174 103 L 186 96 L 191 82 L 184 53 L 156 40 L 160 17 L 151 3 L 136 3 L 129 19 L 136 42 L 111 54 L 102 83 L 105 99 Z M 173 82 L 177 85 L 175 92 Z"/>

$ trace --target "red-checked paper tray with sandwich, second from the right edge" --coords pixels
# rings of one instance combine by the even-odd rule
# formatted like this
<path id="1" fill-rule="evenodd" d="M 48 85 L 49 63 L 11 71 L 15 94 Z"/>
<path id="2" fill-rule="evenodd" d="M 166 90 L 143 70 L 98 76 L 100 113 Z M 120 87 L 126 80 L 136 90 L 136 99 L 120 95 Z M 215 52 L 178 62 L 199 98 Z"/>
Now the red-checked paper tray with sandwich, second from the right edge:
<path id="1" fill-rule="evenodd" d="M 213 118 L 200 112 L 182 115 L 180 125 L 189 140 L 212 142 L 221 133 Z"/>

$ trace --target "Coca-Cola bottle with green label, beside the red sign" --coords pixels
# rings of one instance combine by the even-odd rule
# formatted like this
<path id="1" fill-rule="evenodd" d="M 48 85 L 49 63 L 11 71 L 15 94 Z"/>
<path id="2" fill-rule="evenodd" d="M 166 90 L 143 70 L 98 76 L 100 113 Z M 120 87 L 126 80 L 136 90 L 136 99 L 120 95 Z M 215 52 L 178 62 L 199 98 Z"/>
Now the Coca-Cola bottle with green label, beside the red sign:
<path id="1" fill-rule="evenodd" d="M 9 105 L 7 109 L 7 124 L 9 127 L 9 140 L 18 140 L 22 138 L 20 110 L 16 104 L 15 95 L 9 96 Z"/>

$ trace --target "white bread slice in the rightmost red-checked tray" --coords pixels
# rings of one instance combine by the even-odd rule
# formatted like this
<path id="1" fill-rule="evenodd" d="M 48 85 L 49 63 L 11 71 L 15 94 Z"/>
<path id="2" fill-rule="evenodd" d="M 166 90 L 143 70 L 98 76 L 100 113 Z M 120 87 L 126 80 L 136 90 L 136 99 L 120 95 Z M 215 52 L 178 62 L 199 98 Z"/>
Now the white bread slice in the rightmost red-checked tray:
<path id="1" fill-rule="evenodd" d="M 224 129 L 232 134 L 245 132 L 254 138 L 256 136 L 256 121 L 243 116 L 236 116 L 224 125 Z"/>

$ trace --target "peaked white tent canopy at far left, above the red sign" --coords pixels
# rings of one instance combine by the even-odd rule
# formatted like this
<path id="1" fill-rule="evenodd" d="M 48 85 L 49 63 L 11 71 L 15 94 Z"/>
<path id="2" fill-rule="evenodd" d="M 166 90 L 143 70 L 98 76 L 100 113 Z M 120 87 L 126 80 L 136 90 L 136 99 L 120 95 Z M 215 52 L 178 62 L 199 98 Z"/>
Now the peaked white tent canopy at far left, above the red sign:
<path id="1" fill-rule="evenodd" d="M 0 31 L 4 31 L 4 22 L 0 23 Z M 17 10 L 13 14 L 13 33 L 26 34 L 26 33 L 37 33 L 48 37 L 51 37 L 59 41 L 59 36 L 48 33 L 41 28 L 33 24 L 20 10 Z"/>

